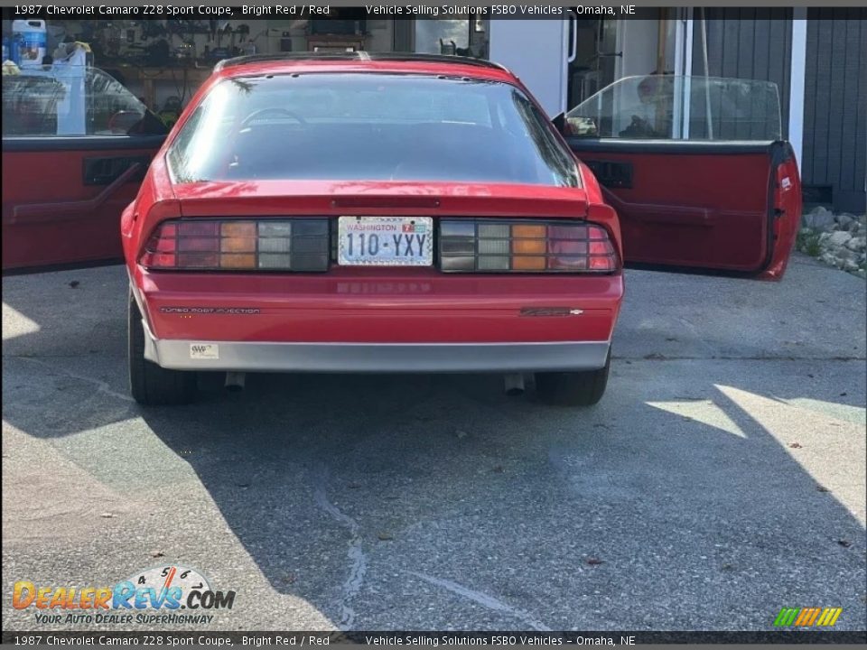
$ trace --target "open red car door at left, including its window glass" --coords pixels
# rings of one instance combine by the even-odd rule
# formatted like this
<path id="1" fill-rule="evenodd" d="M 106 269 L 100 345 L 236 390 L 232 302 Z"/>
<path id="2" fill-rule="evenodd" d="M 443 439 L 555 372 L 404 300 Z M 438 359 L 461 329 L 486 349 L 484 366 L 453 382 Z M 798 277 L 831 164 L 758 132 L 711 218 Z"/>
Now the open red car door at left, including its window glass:
<path id="1" fill-rule="evenodd" d="M 4 272 L 120 259 L 120 214 L 167 129 L 101 70 L 5 72 Z"/>

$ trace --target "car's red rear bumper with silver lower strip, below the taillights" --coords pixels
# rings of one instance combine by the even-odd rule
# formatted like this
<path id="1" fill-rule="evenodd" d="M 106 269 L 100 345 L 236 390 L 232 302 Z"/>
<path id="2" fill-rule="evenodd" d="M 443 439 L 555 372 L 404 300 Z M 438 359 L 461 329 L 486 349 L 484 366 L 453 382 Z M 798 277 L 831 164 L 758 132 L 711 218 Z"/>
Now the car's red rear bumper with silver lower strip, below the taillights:
<path id="1" fill-rule="evenodd" d="M 620 274 L 131 275 L 145 357 L 178 370 L 592 370 L 605 365 L 623 295 Z"/>

